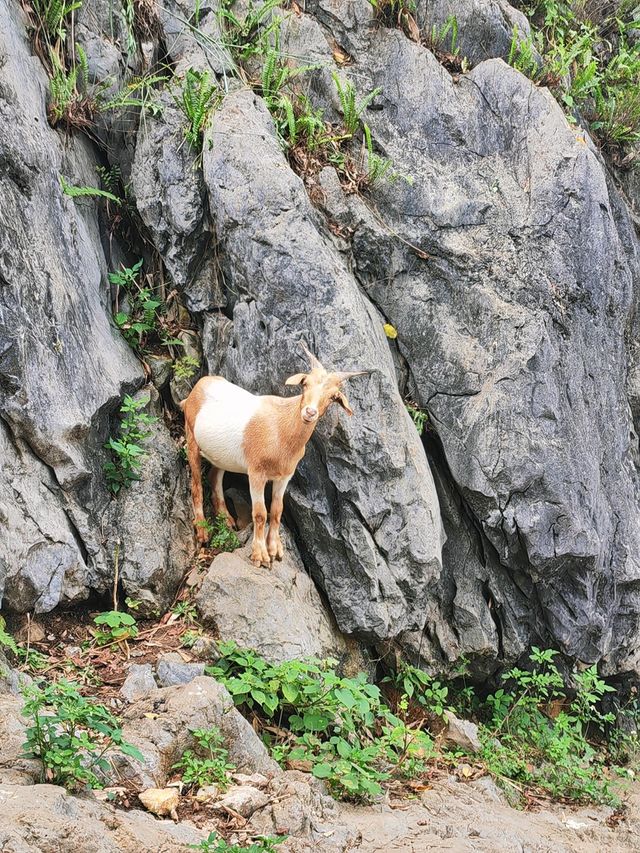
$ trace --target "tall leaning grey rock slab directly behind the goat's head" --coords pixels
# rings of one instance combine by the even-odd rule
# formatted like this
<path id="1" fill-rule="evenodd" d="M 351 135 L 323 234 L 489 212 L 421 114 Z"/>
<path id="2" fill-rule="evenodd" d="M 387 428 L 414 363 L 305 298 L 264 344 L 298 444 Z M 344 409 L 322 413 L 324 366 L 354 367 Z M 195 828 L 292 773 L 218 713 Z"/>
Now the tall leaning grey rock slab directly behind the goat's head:
<path id="1" fill-rule="evenodd" d="M 442 527 L 382 321 L 327 238 L 254 94 L 225 98 L 205 137 L 203 167 L 235 300 L 226 377 L 283 393 L 286 377 L 305 368 L 301 340 L 328 368 L 372 371 L 350 384 L 353 418 L 337 407 L 325 415 L 288 490 L 305 563 L 346 633 L 375 641 L 421 626 L 428 583 L 440 572 Z"/>

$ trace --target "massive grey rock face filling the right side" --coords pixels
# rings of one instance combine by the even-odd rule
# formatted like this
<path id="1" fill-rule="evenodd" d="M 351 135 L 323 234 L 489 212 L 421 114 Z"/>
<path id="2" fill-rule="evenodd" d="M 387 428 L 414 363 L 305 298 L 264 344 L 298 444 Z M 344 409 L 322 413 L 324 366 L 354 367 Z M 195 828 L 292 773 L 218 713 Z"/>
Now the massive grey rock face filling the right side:
<path id="1" fill-rule="evenodd" d="M 449 536 L 407 648 L 486 673 L 544 642 L 636 669 L 628 212 L 585 132 L 502 61 L 452 77 L 380 28 L 353 72 L 361 94 L 382 89 L 366 120 L 409 180 L 362 200 L 325 170 L 323 208 L 353 232 L 354 275 L 397 330 Z M 314 86 L 331 101 L 326 76 Z"/>

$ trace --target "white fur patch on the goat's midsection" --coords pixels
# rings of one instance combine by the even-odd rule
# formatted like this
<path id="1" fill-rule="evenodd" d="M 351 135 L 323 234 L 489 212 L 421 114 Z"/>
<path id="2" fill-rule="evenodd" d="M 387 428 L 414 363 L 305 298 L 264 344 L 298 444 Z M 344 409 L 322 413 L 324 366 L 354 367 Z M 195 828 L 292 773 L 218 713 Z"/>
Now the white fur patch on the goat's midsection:
<path id="1" fill-rule="evenodd" d="M 226 379 L 211 382 L 196 416 L 194 435 L 205 459 L 223 471 L 247 473 L 242 451 L 244 431 L 260 406 L 260 397 Z"/>

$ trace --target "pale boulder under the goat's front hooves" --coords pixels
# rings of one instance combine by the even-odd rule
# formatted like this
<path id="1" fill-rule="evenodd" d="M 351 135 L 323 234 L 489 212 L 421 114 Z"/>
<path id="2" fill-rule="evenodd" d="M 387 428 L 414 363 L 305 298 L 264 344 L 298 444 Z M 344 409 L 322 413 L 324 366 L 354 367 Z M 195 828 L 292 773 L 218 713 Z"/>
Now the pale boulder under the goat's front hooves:
<path id="1" fill-rule="evenodd" d="M 360 668 L 364 661 L 338 631 L 286 531 L 283 541 L 284 558 L 271 569 L 251 563 L 250 543 L 218 555 L 196 598 L 201 615 L 221 640 L 234 640 L 273 663 L 332 657 Z"/>

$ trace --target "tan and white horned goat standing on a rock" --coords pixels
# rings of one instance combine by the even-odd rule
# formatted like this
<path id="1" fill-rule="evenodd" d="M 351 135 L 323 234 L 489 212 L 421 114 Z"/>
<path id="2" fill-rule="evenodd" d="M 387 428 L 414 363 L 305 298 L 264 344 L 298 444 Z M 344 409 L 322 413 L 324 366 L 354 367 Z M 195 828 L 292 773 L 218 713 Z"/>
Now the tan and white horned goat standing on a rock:
<path id="1" fill-rule="evenodd" d="M 281 560 L 280 519 L 284 492 L 311 438 L 318 419 L 331 403 L 339 403 L 348 415 L 353 412 L 340 390 L 342 383 L 369 371 L 330 373 L 302 344 L 310 364 L 309 373 L 290 376 L 285 385 L 301 385 L 296 397 L 257 396 L 222 376 L 200 379 L 186 400 L 184 411 L 187 458 L 191 468 L 194 524 L 201 543 L 207 541 L 202 508 L 201 456 L 211 463 L 209 482 L 213 509 L 224 516 L 229 527 L 235 522 L 227 509 L 222 481 L 225 471 L 249 475 L 253 518 L 251 561 L 256 567 Z M 269 534 L 265 539 L 267 509 L 264 489 L 273 481 Z"/>

